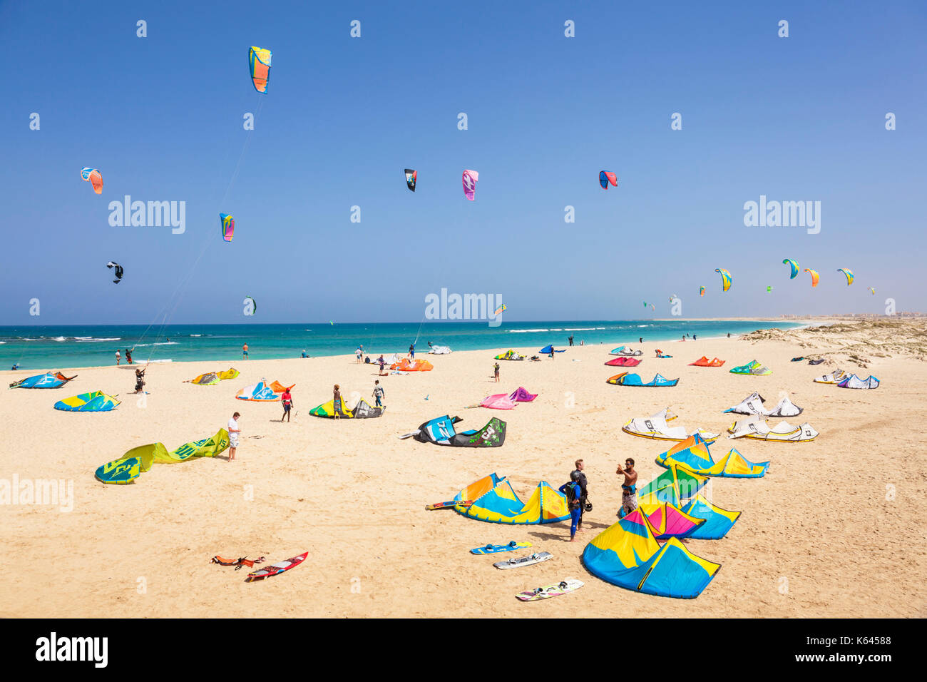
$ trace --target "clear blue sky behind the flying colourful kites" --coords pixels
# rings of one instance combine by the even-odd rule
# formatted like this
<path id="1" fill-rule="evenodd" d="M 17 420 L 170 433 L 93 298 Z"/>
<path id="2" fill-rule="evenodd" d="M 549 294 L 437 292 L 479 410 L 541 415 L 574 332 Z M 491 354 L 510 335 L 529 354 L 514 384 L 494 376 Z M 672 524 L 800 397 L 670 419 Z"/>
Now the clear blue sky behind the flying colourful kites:
<path id="1" fill-rule="evenodd" d="M 171 322 L 245 321 L 246 295 L 256 322 L 418 320 L 442 287 L 510 320 L 667 316 L 671 294 L 686 316 L 924 310 L 927 5 L 808 5 L 0 2 L 0 324 L 147 324 L 200 253 Z M 184 200 L 185 234 L 108 225 L 126 194 Z M 821 201 L 820 233 L 744 227 L 761 194 Z"/>

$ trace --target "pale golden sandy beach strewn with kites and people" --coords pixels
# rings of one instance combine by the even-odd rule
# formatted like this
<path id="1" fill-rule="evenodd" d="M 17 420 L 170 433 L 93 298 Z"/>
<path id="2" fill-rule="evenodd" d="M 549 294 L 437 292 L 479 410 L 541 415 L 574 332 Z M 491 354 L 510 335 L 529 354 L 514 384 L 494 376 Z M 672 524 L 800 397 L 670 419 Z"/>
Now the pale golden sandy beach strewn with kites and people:
<path id="1" fill-rule="evenodd" d="M 537 363 L 502 362 L 498 384 L 490 378 L 493 355 L 506 348 L 416 354 L 434 370 L 380 378 L 386 414 L 362 420 L 309 414 L 331 398 L 335 383 L 346 398 L 358 392 L 372 402 L 377 369 L 349 354 L 238 361 L 241 375 L 215 386 L 184 380 L 228 367 L 153 366 L 144 398 L 127 394 L 133 373 L 123 368 L 47 367 L 79 376 L 59 390 L 0 392 L 0 479 L 73 483 L 73 508 L 0 507 L 6 571 L 17 576 L 0 585 L 0 615 L 923 617 L 925 326 L 922 318 L 833 320 L 827 329 L 643 343 L 643 362 L 632 371 L 644 380 L 655 372 L 679 377 L 668 389 L 606 384 L 623 370 L 603 366 L 612 347 L 605 344 L 574 346 Z M 655 359 L 657 347 L 673 358 Z M 260 356 L 260 349 L 251 354 Z M 814 354 L 826 362 L 790 362 Z M 688 366 L 702 355 L 727 362 Z M 755 358 L 774 373 L 728 371 Z M 873 374 L 882 385 L 850 391 L 812 382 L 837 367 Z M 35 373 L 0 372 L 7 384 Z M 278 404 L 235 400 L 261 378 L 296 384 L 291 423 L 281 423 Z M 508 411 L 466 408 L 519 386 L 540 393 L 538 399 Z M 120 407 L 99 414 L 52 408 L 95 390 L 120 393 Z M 688 429 L 723 432 L 733 417 L 722 410 L 754 391 L 772 404 L 787 394 L 805 409 L 789 421 L 808 421 L 820 435 L 807 444 L 735 443 L 722 435 L 712 447 L 718 457 L 736 445 L 744 457 L 771 466 L 762 479 L 709 484 L 714 504 L 743 514 L 726 538 L 687 542 L 698 556 L 722 564 L 702 595 L 635 594 L 588 573 L 579 560 L 583 547 L 616 521 L 616 464 L 633 457 L 641 479 L 651 480 L 662 471 L 654 457 L 670 445 L 623 433 L 622 424 L 671 406 Z M 131 485 L 95 480 L 98 466 L 130 448 L 160 442 L 172 449 L 205 438 L 235 411 L 242 414 L 242 438 L 234 462 L 226 451 L 155 465 Z M 442 448 L 397 437 L 445 414 L 472 429 L 500 417 L 508 422 L 505 444 Z M 568 523 L 503 526 L 452 510 L 425 511 L 492 471 L 508 476 L 526 499 L 540 480 L 565 483 L 579 457 L 594 508 L 572 544 Z M 468 551 L 509 540 L 531 542 L 554 558 L 498 571 L 491 565 L 498 558 Z M 245 571 L 210 564 L 216 554 L 273 562 L 307 550 L 301 566 L 257 584 L 244 582 Z M 541 603 L 514 598 L 567 576 L 586 585 Z"/>

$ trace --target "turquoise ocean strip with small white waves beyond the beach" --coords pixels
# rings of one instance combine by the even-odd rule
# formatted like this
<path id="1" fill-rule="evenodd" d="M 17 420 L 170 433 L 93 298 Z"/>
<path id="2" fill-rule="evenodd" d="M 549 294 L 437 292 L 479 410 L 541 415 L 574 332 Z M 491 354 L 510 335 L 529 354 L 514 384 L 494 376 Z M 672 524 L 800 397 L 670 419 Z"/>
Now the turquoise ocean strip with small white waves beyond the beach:
<path id="1" fill-rule="evenodd" d="M 0 367 L 9 369 L 57 369 L 99 367 L 115 364 L 119 349 L 133 349 L 135 362 L 203 360 L 234 362 L 248 343 L 252 360 L 352 354 L 358 345 L 374 357 L 407 353 L 415 342 L 416 353 L 428 351 L 427 342 L 451 346 L 453 351 L 535 348 L 548 343 L 566 347 L 574 342 L 608 346 L 622 343 L 675 341 L 683 334 L 710 338 L 743 334 L 762 328 L 800 327 L 794 322 L 709 320 L 572 320 L 560 322 L 502 322 L 489 327 L 484 322 L 303 323 L 286 325 L 169 325 L 165 328 L 133 326 L 0 327 Z M 668 351 L 667 351 L 668 352 Z M 374 359 L 372 357 L 371 359 Z"/>

